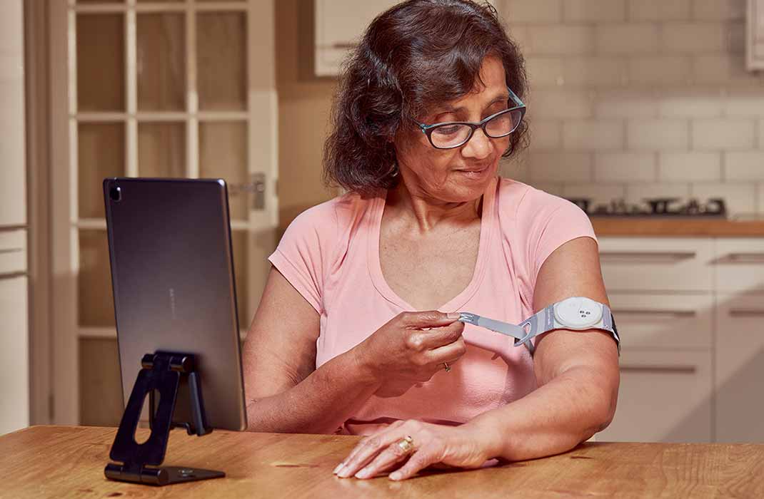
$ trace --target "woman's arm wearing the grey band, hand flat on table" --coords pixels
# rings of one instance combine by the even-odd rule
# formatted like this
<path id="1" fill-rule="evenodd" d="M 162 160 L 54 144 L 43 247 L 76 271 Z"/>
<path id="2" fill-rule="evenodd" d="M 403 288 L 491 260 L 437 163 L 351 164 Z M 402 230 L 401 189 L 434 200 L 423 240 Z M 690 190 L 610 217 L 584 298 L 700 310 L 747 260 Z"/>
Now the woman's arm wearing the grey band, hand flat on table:
<path id="1" fill-rule="evenodd" d="M 533 309 L 571 296 L 608 304 L 597 243 L 578 237 L 545 260 L 536 278 Z M 487 459 L 534 459 L 565 452 L 604 430 L 618 397 L 617 345 L 601 330 L 555 330 L 536 340 L 533 357 L 538 388 L 489 410 L 460 427 L 397 422 L 365 438 L 345 459 L 340 476 L 367 478 L 406 459 L 397 445 L 412 436 L 415 450 L 390 478 L 410 478 L 435 463 L 477 468 Z M 359 470 L 363 470 L 360 475 Z"/>

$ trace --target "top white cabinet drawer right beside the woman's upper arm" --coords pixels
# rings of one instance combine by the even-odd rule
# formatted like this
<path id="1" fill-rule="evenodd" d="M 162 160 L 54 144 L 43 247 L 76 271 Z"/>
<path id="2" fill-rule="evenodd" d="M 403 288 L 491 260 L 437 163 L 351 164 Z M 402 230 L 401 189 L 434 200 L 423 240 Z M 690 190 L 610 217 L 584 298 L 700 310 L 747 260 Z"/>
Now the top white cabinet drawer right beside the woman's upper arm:
<path id="1" fill-rule="evenodd" d="M 600 262 L 608 291 L 713 289 L 712 240 L 601 237 Z"/>

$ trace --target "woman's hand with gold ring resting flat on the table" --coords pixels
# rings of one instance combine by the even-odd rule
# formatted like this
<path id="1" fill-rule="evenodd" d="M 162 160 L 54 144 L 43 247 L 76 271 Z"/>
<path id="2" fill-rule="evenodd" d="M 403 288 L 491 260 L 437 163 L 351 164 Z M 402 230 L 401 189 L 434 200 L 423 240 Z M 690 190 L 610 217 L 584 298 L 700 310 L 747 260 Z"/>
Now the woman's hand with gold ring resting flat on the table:
<path id="1" fill-rule="evenodd" d="M 406 444 L 400 445 L 407 436 L 411 437 L 410 449 L 406 449 Z M 416 420 L 396 421 L 362 439 L 334 472 L 340 478 L 372 478 L 398 468 L 390 473 L 390 479 L 405 480 L 435 464 L 480 468 L 493 457 L 485 438 L 485 433 L 465 425 L 447 427 Z"/>

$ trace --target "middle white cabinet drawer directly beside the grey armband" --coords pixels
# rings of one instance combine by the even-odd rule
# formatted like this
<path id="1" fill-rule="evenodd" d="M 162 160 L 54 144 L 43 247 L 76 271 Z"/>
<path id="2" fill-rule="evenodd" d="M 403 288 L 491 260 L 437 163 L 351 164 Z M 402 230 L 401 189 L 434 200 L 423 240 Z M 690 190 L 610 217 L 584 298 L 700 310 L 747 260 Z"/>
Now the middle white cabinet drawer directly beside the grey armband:
<path id="1" fill-rule="evenodd" d="M 709 349 L 714 295 L 608 293 L 621 348 Z"/>

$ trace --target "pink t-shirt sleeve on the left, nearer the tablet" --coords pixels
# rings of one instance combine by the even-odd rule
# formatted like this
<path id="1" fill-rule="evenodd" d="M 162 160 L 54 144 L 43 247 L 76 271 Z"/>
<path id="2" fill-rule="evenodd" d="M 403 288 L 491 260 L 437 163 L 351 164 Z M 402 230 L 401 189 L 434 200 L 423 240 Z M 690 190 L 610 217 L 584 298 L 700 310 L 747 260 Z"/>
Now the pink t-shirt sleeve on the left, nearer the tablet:
<path id="1" fill-rule="evenodd" d="M 323 311 L 325 269 L 336 216 L 330 202 L 299 214 L 286 227 L 270 263 L 303 295 L 316 311 Z"/>

